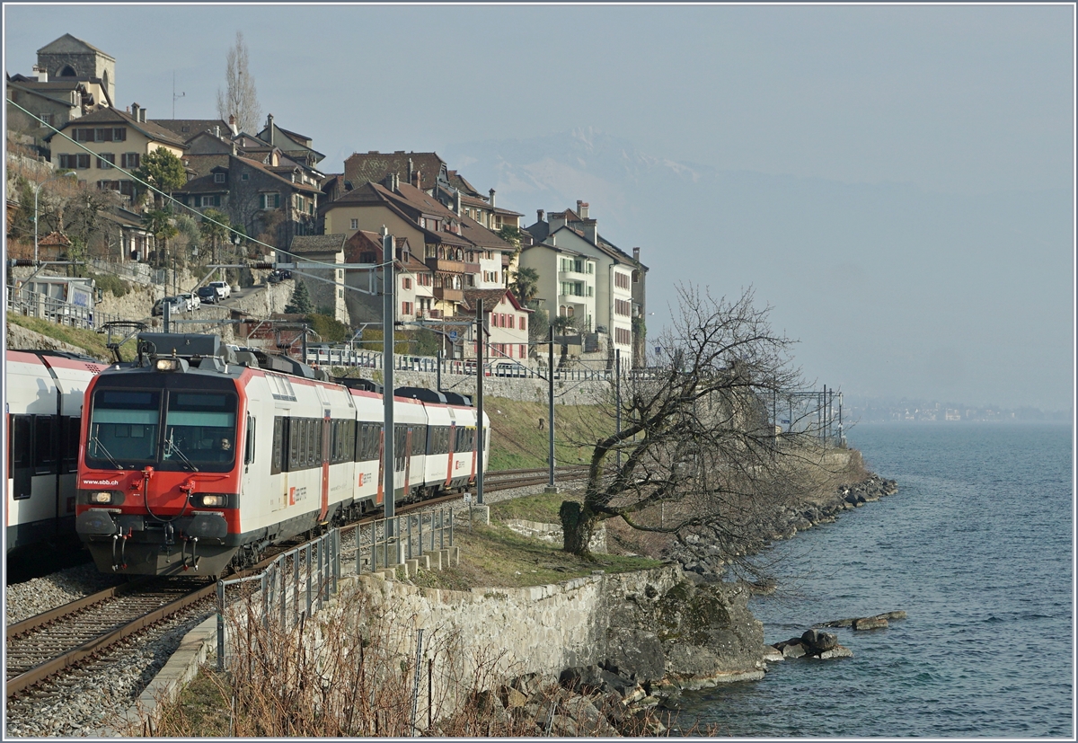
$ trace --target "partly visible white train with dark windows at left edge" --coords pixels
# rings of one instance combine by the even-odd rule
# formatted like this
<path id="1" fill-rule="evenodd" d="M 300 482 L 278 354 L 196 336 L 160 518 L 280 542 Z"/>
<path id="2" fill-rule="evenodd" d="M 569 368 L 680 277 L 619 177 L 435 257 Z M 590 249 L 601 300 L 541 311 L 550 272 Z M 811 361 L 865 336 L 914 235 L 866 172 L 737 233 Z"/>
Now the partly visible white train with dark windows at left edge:
<path id="1" fill-rule="evenodd" d="M 61 350 L 4 352 L 8 554 L 75 540 L 83 395 L 108 364 Z"/>

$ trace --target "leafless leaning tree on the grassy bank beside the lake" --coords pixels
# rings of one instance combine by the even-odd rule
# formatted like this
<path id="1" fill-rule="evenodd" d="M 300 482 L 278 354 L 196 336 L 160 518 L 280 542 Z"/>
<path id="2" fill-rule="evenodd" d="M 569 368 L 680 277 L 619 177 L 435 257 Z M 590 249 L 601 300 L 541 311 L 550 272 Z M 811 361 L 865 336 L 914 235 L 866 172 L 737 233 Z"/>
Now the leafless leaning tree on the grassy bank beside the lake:
<path id="1" fill-rule="evenodd" d="M 768 308 L 746 291 L 734 301 L 679 287 L 680 316 L 658 340 L 663 362 L 621 386 L 620 432 L 594 443 L 583 503 L 562 504 L 564 549 L 586 556 L 596 525 L 619 518 L 685 544 L 706 532 L 734 558 L 761 519 L 807 486 L 802 442 L 812 431 L 776 435 L 771 395 L 801 386 L 771 330 Z M 607 401 L 611 416 L 618 401 Z M 620 455 L 620 467 L 613 466 Z"/>

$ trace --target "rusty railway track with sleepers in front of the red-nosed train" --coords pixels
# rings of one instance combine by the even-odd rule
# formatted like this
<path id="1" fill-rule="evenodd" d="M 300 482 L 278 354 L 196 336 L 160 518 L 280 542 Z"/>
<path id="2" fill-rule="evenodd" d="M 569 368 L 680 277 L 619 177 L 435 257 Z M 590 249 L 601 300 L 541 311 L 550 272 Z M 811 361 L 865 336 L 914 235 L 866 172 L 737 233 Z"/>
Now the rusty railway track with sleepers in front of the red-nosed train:
<path id="1" fill-rule="evenodd" d="M 116 586 L 8 628 L 6 696 L 213 595 L 198 580 L 152 580 Z"/>

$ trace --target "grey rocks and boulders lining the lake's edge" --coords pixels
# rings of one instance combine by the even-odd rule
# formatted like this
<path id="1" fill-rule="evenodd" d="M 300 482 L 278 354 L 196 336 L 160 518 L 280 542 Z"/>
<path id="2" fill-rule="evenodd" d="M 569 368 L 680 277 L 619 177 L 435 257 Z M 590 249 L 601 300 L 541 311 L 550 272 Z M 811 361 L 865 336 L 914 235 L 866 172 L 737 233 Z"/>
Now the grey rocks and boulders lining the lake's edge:
<path id="1" fill-rule="evenodd" d="M 757 539 L 747 550 L 756 552 L 799 531 L 831 523 L 844 511 L 897 492 L 894 480 L 871 474 L 811 501 L 785 507 L 760 520 Z M 774 646 L 764 645 L 763 624 L 749 611 L 748 600 L 754 593 L 773 591 L 774 586 L 723 581 L 727 564 L 718 556 L 715 542 L 701 535 L 690 535 L 687 542 L 667 555 L 680 567 L 682 579 L 665 591 L 649 595 L 652 592 L 645 590 L 642 595 L 612 601 L 605 631 L 606 659 L 565 669 L 556 679 L 557 693 L 577 698 L 573 704 L 586 714 L 569 721 L 561 721 L 556 714 L 551 717 L 549 704 L 543 706 L 536 694 L 549 697 L 554 679 L 534 689 L 531 696 L 503 691 L 490 703 L 500 704 L 505 714 L 515 715 L 514 719 L 527 717 L 528 726 L 536 726 L 541 734 L 545 734 L 543 720 L 549 723 L 548 730 L 555 730 L 553 734 L 660 734 L 665 727 L 653 711 L 677 710 L 682 691 L 759 680 L 768 662 L 853 656 L 838 644 L 834 634 L 817 629 Z M 824 627 L 870 630 L 886 627 L 888 619 L 904 618 L 903 611 L 892 611 L 835 620 Z M 510 700 L 520 702 L 521 708 Z M 631 724 L 627 728 L 626 720 Z"/>

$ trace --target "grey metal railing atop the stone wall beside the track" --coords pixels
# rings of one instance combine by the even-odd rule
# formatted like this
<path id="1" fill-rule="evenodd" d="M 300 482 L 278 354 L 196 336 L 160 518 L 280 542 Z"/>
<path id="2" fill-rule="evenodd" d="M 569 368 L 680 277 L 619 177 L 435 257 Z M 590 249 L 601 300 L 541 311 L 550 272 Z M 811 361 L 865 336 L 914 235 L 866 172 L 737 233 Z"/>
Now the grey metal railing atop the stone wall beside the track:
<path id="1" fill-rule="evenodd" d="M 347 547 L 343 548 L 342 546 Z M 334 528 L 274 559 L 261 573 L 217 583 L 217 665 L 225 666 L 226 593 L 230 587 L 258 583 L 249 596 L 265 629 L 277 618 L 282 629 L 296 627 L 322 608 L 338 590 L 342 563 L 350 558 L 354 572 L 370 573 L 400 565 L 453 546 L 453 509 L 434 509 L 369 524 Z M 381 563 L 381 567 L 378 566 Z M 302 610 L 301 610 L 302 607 Z"/>

